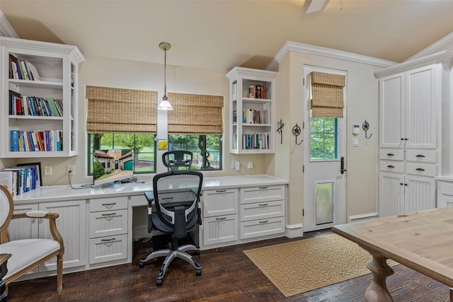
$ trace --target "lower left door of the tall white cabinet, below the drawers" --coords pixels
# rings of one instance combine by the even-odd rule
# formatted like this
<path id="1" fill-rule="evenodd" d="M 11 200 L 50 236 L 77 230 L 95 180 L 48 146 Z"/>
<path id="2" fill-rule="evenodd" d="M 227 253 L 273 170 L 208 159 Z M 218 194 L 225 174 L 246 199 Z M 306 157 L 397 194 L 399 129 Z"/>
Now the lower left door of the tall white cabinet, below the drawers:
<path id="1" fill-rule="evenodd" d="M 404 175 L 379 173 L 379 217 L 404 213 Z"/>

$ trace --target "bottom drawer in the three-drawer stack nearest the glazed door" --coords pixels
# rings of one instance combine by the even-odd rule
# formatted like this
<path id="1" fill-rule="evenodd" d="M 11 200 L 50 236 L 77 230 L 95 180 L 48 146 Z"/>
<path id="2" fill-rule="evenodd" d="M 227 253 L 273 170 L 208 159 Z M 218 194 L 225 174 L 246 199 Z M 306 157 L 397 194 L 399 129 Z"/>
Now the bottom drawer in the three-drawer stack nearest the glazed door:
<path id="1" fill-rule="evenodd" d="M 241 239 L 285 233 L 285 217 L 241 222 Z"/>

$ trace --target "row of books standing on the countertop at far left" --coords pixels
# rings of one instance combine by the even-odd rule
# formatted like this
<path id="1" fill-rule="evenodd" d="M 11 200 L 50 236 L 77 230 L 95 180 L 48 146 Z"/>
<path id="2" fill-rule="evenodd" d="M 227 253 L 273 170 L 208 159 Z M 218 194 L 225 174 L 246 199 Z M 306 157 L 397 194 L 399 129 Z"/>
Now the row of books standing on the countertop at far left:
<path id="1" fill-rule="evenodd" d="M 41 185 L 40 165 L 30 164 L 0 170 L 0 185 L 5 185 L 13 196 L 35 190 Z"/>

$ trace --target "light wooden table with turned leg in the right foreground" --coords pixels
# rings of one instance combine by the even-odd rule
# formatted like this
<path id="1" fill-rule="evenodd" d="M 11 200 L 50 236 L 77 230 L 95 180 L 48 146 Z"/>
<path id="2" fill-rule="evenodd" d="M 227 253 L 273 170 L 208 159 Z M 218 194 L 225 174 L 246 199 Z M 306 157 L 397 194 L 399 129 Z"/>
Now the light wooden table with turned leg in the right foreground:
<path id="1" fill-rule="evenodd" d="M 365 301 L 393 301 L 386 277 L 394 271 L 387 259 L 453 287 L 453 208 L 342 224 L 332 231 L 372 255 L 367 268 L 373 280 L 365 291 Z M 450 301 L 452 293 L 450 289 Z"/>

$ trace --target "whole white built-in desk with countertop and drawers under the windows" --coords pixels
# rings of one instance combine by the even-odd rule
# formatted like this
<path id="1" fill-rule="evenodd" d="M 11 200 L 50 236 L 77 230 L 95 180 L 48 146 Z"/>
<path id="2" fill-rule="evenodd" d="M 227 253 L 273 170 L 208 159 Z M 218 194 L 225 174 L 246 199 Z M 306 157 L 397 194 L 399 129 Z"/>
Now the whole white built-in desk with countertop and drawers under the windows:
<path id="1" fill-rule="evenodd" d="M 287 180 L 270 175 L 205 177 L 200 203 L 203 215 L 203 225 L 199 228 L 201 248 L 284 236 L 286 185 Z M 65 247 L 64 272 L 132 262 L 134 228 L 137 228 L 134 209 L 141 214 L 137 207 L 147 206 L 144 192 L 152 190 L 152 180 L 112 188 L 73 187 L 40 187 L 13 197 L 15 213 L 40 209 L 59 214 L 57 227 Z M 229 207 L 222 211 L 219 204 L 229 204 Z M 143 216 L 147 216 L 146 209 L 143 209 Z M 146 224 L 147 220 L 144 221 Z M 42 232 L 44 228 L 40 227 L 40 221 L 13 222 L 11 238 L 47 236 Z M 147 230 L 146 225 L 141 227 Z M 231 236 L 214 237 L 219 228 L 227 228 L 229 232 L 226 233 Z M 52 263 L 40 267 L 37 274 L 29 278 L 53 274 L 55 267 Z"/>

